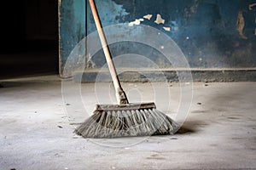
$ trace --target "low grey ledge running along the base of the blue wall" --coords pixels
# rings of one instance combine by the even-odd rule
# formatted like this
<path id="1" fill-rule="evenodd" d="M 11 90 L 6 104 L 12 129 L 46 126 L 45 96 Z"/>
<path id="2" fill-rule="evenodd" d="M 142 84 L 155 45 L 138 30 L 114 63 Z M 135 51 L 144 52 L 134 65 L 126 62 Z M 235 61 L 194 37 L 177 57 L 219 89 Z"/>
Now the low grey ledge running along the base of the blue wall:
<path id="1" fill-rule="evenodd" d="M 256 68 L 224 68 L 224 69 L 120 69 L 121 82 L 180 81 L 179 75 L 189 76 L 193 82 L 256 82 Z M 184 74 L 182 74 L 184 73 Z M 186 77 L 182 77 L 186 78 Z M 189 77 L 188 77 L 189 79 Z M 75 72 L 75 82 L 109 82 L 110 74 L 105 70 L 88 70 Z"/>

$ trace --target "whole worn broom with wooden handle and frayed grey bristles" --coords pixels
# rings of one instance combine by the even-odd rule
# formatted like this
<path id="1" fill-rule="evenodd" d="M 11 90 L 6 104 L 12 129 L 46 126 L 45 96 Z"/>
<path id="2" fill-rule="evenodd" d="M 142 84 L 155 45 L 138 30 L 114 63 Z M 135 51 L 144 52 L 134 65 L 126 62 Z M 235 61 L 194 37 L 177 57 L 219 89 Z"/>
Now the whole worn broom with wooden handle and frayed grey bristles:
<path id="1" fill-rule="evenodd" d="M 89 0 L 89 2 L 108 69 L 113 79 L 118 105 L 96 105 L 94 114 L 77 127 L 74 133 L 84 138 L 117 138 L 176 133 L 179 127 L 177 122 L 156 110 L 154 103 L 130 104 L 128 102 L 113 65 L 96 4 L 93 0 Z"/>

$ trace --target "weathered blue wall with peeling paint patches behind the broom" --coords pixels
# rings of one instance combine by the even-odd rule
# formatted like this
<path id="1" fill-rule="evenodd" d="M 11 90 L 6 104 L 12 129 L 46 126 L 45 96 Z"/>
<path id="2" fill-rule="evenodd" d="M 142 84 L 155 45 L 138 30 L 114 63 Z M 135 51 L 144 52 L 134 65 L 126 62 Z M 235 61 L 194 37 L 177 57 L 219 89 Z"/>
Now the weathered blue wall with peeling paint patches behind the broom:
<path id="1" fill-rule="evenodd" d="M 153 26 L 172 37 L 182 49 L 191 68 L 256 66 L 255 0 L 95 1 L 102 26 L 119 23 Z M 84 37 L 85 31 L 90 34 L 96 31 L 96 27 L 88 5 L 85 30 L 84 0 L 62 0 L 59 6 L 60 57 L 61 65 L 64 65 L 68 54 Z M 123 54 L 137 52 L 151 57 L 153 53 L 147 47 L 128 42 L 113 45 L 111 51 L 113 56 L 119 55 L 120 51 Z M 166 67 L 165 62 L 157 59 L 160 54 L 153 54 L 154 60 L 159 61 L 156 64 Z M 101 52 L 99 55 L 102 55 Z M 101 67 L 104 62 L 104 58 L 97 58 L 93 60 L 93 67 Z"/>

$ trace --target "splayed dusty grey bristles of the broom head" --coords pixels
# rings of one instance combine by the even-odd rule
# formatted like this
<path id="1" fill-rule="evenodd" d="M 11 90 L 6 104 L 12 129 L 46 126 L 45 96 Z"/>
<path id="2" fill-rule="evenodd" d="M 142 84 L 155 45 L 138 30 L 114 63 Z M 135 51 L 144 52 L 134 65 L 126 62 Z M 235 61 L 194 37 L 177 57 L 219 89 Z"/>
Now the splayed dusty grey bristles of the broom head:
<path id="1" fill-rule="evenodd" d="M 84 138 L 118 138 L 173 134 L 177 122 L 156 109 L 96 111 L 74 133 Z"/>

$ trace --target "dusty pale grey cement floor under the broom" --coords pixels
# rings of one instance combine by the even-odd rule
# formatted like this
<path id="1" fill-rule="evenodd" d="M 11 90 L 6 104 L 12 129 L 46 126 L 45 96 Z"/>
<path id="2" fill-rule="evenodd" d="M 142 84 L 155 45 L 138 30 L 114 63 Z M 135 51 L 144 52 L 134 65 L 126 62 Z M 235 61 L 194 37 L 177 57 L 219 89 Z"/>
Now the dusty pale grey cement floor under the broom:
<path id="1" fill-rule="evenodd" d="M 86 115 L 81 101 L 90 112 L 94 89 L 98 101 L 108 101 L 108 84 L 83 84 L 81 98 L 68 83 L 61 93 L 56 76 L 1 84 L 0 169 L 256 169 L 256 82 L 195 82 L 180 132 L 125 139 L 82 139 L 73 133 Z M 167 113 L 175 116 L 180 88 L 167 86 L 172 94 Z M 154 94 L 148 83 L 124 87 L 130 100 L 150 100 Z M 157 93 L 164 97 L 156 105 L 166 111 L 165 88 Z"/>

